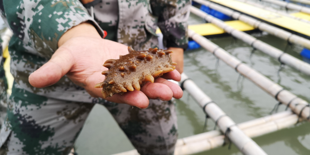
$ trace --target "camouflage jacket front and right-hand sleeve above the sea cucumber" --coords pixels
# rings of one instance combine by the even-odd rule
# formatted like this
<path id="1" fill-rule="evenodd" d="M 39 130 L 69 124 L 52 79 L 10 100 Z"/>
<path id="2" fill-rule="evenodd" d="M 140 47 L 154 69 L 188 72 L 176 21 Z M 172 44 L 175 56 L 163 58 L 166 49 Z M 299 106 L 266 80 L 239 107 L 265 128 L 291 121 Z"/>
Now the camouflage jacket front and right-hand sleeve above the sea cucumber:
<path id="1" fill-rule="evenodd" d="M 92 5 L 84 6 L 91 13 Z M 165 47 L 186 48 L 189 6 L 190 0 L 100 0 L 93 12 L 109 40 L 139 50 L 156 47 L 158 25 Z"/>

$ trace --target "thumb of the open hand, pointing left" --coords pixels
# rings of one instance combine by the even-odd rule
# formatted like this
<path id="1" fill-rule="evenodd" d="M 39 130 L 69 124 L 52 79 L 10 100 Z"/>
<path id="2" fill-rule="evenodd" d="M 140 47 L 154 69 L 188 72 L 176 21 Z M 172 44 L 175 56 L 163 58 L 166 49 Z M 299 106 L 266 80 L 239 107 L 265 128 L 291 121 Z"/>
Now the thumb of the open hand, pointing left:
<path id="1" fill-rule="evenodd" d="M 74 58 L 69 49 L 60 47 L 52 58 L 29 76 L 33 87 L 43 88 L 55 84 L 69 72 Z"/>

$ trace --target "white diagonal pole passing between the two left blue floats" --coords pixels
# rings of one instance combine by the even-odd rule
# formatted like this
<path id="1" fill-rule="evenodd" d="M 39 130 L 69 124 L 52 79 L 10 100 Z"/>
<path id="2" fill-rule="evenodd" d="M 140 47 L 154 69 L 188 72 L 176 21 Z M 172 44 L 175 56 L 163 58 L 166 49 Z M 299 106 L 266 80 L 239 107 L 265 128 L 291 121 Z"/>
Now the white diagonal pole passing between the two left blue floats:
<path id="1" fill-rule="evenodd" d="M 253 36 L 243 32 L 234 29 L 233 27 L 227 25 L 225 22 L 215 18 L 214 16 L 208 15 L 205 12 L 203 12 L 200 9 L 197 9 L 195 7 L 190 8 L 190 12 L 204 18 L 206 21 L 213 23 L 217 25 L 218 27 L 224 29 L 227 33 L 233 35 L 234 37 L 242 40 L 243 42 L 247 43 L 248 45 L 261 50 L 262 52 L 276 58 L 281 63 L 287 64 L 298 71 L 305 73 L 310 76 L 310 64 L 303 62 L 287 53 L 284 53 L 283 51 L 279 50 L 278 48 L 272 47 L 260 40 L 257 40 Z"/>

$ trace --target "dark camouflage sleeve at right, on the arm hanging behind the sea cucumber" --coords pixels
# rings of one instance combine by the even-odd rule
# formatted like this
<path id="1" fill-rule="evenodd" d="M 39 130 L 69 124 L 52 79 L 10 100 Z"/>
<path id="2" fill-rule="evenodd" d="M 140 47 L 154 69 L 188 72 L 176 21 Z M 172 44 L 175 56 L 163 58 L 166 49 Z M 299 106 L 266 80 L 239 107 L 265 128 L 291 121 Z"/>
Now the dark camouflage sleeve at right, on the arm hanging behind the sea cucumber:
<path id="1" fill-rule="evenodd" d="M 191 0 L 150 0 L 153 15 L 163 33 L 166 47 L 185 49 L 188 43 L 187 19 Z"/>

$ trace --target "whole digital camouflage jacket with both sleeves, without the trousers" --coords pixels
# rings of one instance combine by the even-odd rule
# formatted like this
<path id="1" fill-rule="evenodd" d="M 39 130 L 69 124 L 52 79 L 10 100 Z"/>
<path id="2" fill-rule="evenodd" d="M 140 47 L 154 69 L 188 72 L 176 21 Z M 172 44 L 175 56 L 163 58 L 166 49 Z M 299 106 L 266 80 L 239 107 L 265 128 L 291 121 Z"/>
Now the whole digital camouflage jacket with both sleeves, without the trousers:
<path id="1" fill-rule="evenodd" d="M 82 0 L 89 1 L 89 0 Z M 166 47 L 187 46 L 190 0 L 1 0 L 1 16 L 14 32 L 9 45 L 11 73 L 18 87 L 63 100 L 92 102 L 93 98 L 64 76 L 46 88 L 34 88 L 29 75 L 57 50 L 62 34 L 85 21 L 92 21 L 107 39 L 134 49 L 156 47 L 158 26 Z M 90 15 L 92 14 L 94 18 Z"/>

